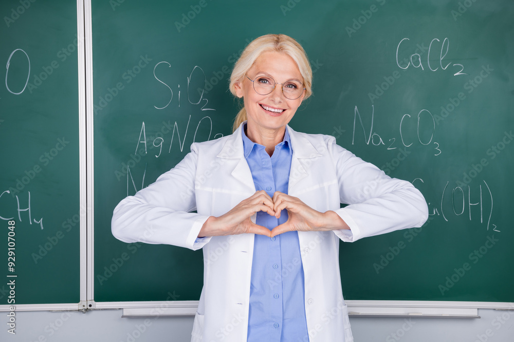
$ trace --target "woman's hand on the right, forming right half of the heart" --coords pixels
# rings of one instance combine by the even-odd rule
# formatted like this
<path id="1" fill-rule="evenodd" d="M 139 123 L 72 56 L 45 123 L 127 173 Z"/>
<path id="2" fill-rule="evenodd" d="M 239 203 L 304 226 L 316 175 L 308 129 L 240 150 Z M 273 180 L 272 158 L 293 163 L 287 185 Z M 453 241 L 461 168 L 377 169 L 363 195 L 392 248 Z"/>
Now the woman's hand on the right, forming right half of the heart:
<path id="1" fill-rule="evenodd" d="M 273 210 L 277 218 L 286 209 L 288 219 L 285 223 L 273 228 L 271 236 L 288 231 L 328 231 L 350 229 L 344 220 L 334 211 L 319 212 L 310 208 L 299 198 L 286 195 L 280 191 L 273 194 Z"/>

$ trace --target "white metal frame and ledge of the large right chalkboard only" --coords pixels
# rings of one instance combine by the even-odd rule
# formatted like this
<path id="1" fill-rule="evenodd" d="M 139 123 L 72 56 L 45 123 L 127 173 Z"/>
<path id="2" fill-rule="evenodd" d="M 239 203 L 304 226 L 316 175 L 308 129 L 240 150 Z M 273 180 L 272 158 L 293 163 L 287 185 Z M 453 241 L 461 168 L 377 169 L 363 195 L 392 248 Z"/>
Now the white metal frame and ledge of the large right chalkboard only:
<path id="1" fill-rule="evenodd" d="M 94 160 L 93 160 L 93 69 L 92 69 L 92 14 L 91 0 L 85 0 L 86 18 L 86 71 L 87 71 L 87 139 L 88 139 L 88 268 L 87 268 L 87 306 L 88 309 L 123 309 L 123 317 L 140 316 L 189 316 L 196 313 L 197 300 L 177 301 L 108 301 L 94 300 Z M 413 301 L 413 300 L 345 300 L 352 316 L 376 317 L 442 317 L 442 318 L 480 318 L 478 309 L 512 310 L 514 303 L 480 301 Z"/>

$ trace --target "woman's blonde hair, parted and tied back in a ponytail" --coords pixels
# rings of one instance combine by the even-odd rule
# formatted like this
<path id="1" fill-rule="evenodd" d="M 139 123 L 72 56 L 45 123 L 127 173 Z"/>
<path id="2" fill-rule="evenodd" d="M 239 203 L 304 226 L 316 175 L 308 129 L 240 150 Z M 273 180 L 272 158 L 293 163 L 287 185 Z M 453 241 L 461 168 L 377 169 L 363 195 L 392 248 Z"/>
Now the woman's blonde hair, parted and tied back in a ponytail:
<path id="1" fill-rule="evenodd" d="M 295 39 L 285 34 L 266 34 L 254 39 L 244 49 L 243 53 L 237 59 L 230 76 L 230 92 L 236 96 L 235 84 L 242 82 L 246 73 L 255 63 L 256 59 L 264 52 L 279 52 L 289 55 L 298 65 L 300 73 L 303 77 L 303 85 L 305 87 L 305 97 L 309 97 L 312 92 L 313 84 L 313 71 L 310 68 L 309 59 L 305 50 Z M 246 110 L 243 107 L 235 117 L 232 131 L 235 131 L 237 127 L 246 120 Z"/>

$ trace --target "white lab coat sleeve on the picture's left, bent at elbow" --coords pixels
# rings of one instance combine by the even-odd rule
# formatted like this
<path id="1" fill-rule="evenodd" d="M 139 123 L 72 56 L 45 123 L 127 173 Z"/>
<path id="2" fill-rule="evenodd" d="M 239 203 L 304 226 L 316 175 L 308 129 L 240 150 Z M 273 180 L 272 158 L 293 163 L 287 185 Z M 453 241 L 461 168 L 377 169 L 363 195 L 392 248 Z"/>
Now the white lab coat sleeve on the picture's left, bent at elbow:
<path id="1" fill-rule="evenodd" d="M 155 183 L 123 199 L 114 209 L 113 235 L 132 243 L 168 244 L 199 249 L 210 237 L 197 238 L 209 216 L 191 213 L 196 210 L 195 173 L 198 152 L 191 152 Z"/>

